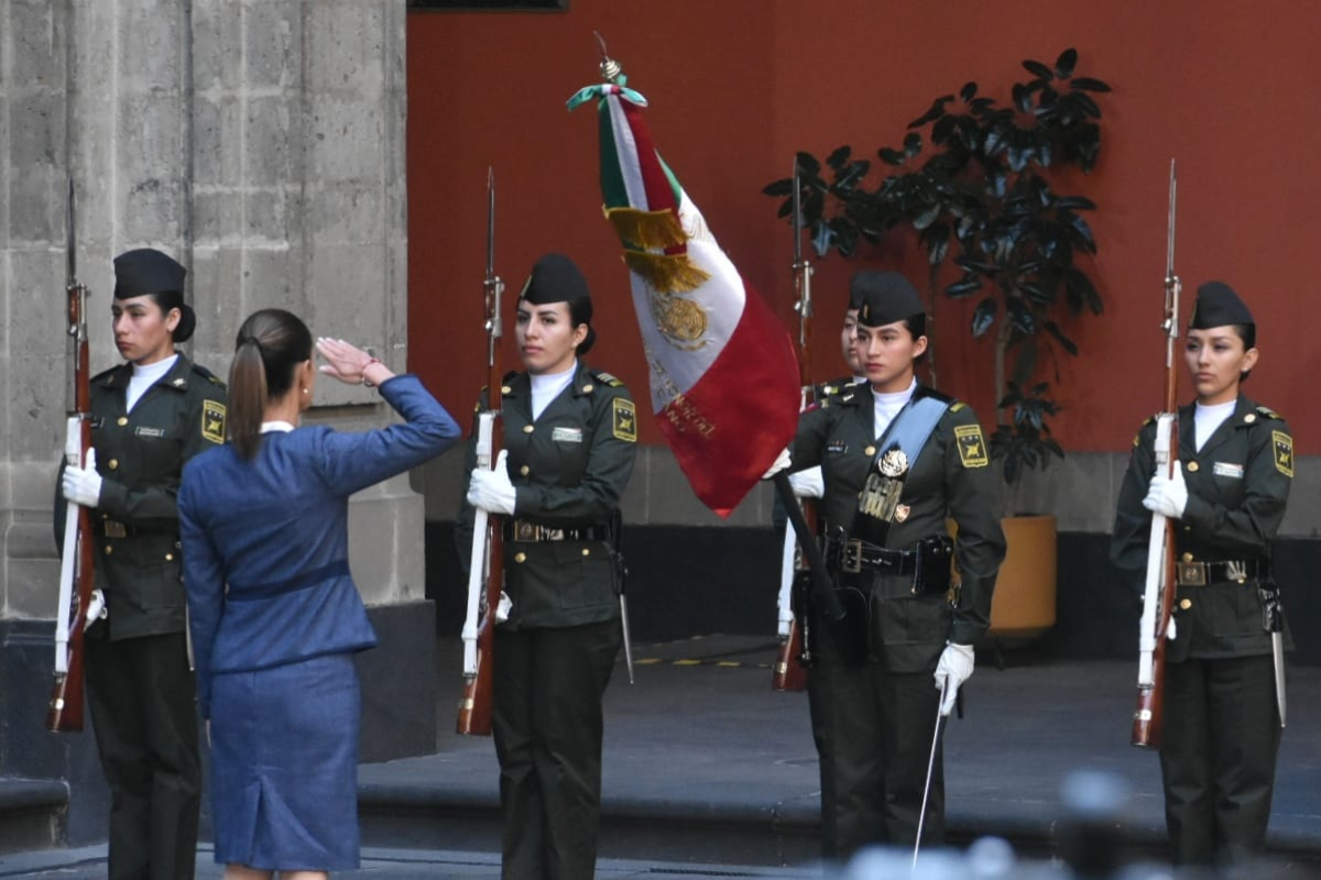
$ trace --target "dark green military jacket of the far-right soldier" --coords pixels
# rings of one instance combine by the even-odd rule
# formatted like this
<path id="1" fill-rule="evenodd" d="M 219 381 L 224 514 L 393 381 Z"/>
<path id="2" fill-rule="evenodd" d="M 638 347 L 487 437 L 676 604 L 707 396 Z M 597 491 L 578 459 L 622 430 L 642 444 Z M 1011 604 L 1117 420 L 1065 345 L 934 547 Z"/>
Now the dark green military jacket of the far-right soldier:
<path id="1" fill-rule="evenodd" d="M 1280 530 L 1293 482 L 1289 426 L 1239 394 L 1234 414 L 1198 451 L 1193 413 L 1193 406 L 1178 412 L 1178 462 L 1188 484 L 1188 507 L 1176 524 L 1178 559 L 1269 562 L 1271 541 Z M 1111 541 L 1115 565 L 1136 578 L 1147 569 L 1152 515 L 1143 499 L 1156 471 L 1155 442 L 1156 424 L 1148 420 L 1133 438 Z M 1256 587 L 1256 578 L 1180 586 L 1173 610 L 1176 639 L 1166 646 L 1166 657 L 1178 662 L 1271 653 Z"/>

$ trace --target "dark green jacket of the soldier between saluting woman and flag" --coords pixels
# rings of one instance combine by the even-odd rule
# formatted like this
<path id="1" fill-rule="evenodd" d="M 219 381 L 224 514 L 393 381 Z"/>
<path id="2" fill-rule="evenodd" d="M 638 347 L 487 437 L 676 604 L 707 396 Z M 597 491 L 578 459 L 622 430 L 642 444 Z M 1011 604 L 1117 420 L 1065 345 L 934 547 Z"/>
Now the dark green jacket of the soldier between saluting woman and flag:
<path id="1" fill-rule="evenodd" d="M 503 449 L 517 495 L 513 519 L 544 529 L 604 530 L 637 454 L 637 412 L 627 388 L 579 361 L 573 381 L 535 421 L 527 373 L 509 373 L 501 392 Z M 476 462 L 473 438 L 464 472 Z M 457 530 L 465 557 L 472 522 L 465 499 Z M 575 627 L 620 616 L 608 541 L 519 541 L 506 532 L 505 592 L 513 607 L 503 627 Z"/>

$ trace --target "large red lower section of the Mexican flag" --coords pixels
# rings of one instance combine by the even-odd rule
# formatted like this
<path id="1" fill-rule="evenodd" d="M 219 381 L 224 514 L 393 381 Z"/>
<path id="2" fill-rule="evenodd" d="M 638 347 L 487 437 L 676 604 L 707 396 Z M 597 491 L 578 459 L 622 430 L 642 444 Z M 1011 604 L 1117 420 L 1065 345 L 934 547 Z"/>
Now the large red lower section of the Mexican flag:
<path id="1" fill-rule="evenodd" d="M 696 496 L 720 516 L 748 495 L 798 427 L 798 361 L 785 325 L 744 285 L 729 343 L 657 424 Z"/>

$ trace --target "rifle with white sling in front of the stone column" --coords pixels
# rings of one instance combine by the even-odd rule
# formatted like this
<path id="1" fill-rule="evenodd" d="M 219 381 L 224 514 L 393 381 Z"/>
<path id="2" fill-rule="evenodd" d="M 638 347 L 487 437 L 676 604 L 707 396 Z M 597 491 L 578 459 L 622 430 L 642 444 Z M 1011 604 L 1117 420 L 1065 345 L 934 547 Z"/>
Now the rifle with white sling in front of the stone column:
<path id="1" fill-rule="evenodd" d="M 73 342 L 73 409 L 65 431 L 65 464 L 85 467 L 91 449 L 91 369 L 87 344 L 87 288 L 78 282 L 74 181 L 69 178 L 67 277 L 69 338 Z M 104 602 L 92 587 L 91 511 L 67 503 L 59 554 L 59 599 L 55 607 L 55 681 L 46 707 L 46 730 L 77 732 L 83 727 L 83 631 L 103 616 Z"/>

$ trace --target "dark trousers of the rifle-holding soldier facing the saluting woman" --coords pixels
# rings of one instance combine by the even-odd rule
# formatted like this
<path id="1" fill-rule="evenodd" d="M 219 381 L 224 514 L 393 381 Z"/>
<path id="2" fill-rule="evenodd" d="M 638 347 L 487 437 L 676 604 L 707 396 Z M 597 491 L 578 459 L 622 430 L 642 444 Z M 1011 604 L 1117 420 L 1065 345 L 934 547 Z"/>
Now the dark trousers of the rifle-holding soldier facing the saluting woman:
<path id="1" fill-rule="evenodd" d="M 493 734 L 505 880 L 592 880 L 601 817 L 601 698 L 618 620 L 495 631 Z"/>

